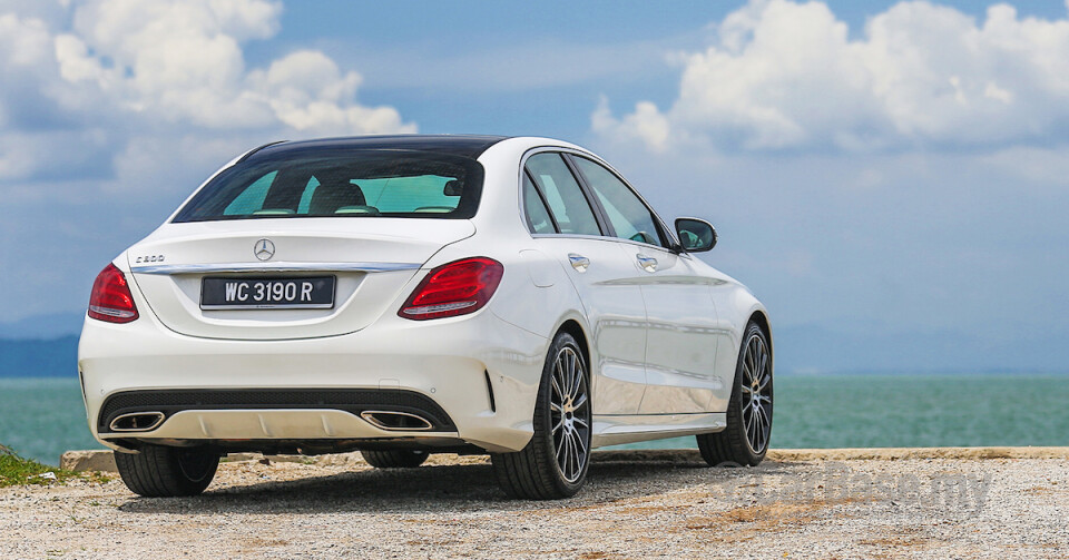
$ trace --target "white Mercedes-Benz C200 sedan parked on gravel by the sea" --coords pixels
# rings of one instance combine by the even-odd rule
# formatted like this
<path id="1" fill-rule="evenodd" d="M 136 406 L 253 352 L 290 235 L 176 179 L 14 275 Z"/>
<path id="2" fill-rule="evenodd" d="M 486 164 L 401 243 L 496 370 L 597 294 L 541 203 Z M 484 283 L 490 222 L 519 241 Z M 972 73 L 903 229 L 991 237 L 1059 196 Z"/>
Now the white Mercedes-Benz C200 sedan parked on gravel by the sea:
<path id="1" fill-rule="evenodd" d="M 605 160 L 532 137 L 253 149 L 92 286 L 89 428 L 129 489 L 192 495 L 231 452 L 490 454 L 504 492 L 575 494 L 590 450 L 695 435 L 757 464 L 768 315 Z"/>

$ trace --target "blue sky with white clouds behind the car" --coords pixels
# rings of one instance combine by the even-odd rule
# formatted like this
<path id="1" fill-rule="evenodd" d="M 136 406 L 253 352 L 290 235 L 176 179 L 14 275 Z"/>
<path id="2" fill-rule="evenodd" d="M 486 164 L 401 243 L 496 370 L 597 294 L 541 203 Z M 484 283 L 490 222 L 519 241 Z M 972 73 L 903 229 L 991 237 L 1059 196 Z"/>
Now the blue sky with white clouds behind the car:
<path id="1" fill-rule="evenodd" d="M 796 370 L 1069 370 L 1063 2 L 0 0 L 0 323 L 264 143 L 539 135 L 710 219 Z"/>

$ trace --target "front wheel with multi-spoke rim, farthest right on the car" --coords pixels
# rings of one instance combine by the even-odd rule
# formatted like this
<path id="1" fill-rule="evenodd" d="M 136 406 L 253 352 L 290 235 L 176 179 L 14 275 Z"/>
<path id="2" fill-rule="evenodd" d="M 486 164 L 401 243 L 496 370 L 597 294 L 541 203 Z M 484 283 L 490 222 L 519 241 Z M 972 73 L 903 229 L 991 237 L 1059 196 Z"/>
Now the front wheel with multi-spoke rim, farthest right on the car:
<path id="1" fill-rule="evenodd" d="M 751 322 L 735 366 L 727 428 L 697 436 L 702 459 L 712 466 L 756 466 L 772 436 L 772 348 L 765 332 Z M 755 404 L 756 403 L 756 404 Z"/>

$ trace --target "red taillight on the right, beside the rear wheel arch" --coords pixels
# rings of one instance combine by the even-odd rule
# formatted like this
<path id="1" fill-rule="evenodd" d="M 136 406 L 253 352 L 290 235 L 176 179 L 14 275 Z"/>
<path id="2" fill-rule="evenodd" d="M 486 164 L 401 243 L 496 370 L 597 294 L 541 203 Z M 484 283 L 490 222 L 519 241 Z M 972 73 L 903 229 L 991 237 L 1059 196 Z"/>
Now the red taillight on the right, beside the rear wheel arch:
<path id="1" fill-rule="evenodd" d="M 503 274 L 504 266 L 487 257 L 439 266 L 415 287 L 398 315 L 423 321 L 474 313 L 490 301 Z"/>

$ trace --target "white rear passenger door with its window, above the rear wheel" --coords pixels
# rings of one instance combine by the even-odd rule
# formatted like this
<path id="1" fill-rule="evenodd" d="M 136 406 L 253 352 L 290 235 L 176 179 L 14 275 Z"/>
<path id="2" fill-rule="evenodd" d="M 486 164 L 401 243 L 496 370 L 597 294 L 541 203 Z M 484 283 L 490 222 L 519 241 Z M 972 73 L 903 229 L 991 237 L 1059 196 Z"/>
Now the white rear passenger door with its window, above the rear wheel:
<path id="1" fill-rule="evenodd" d="M 646 307 L 628 282 L 631 262 L 602 235 L 594 206 L 556 151 L 530 155 L 522 177 L 524 215 L 538 249 L 560 262 L 582 301 L 596 355 L 594 412 L 636 414 L 646 390 Z"/>

